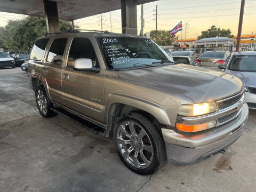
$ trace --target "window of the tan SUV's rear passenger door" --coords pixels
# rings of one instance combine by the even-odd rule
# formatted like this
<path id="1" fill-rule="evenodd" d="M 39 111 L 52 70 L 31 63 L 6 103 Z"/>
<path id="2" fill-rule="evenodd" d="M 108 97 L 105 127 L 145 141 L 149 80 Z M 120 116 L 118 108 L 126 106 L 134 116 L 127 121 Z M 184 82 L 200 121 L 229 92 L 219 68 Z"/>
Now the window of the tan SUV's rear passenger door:
<path id="1" fill-rule="evenodd" d="M 57 38 L 52 42 L 47 56 L 47 62 L 61 65 L 67 41 L 67 38 Z"/>

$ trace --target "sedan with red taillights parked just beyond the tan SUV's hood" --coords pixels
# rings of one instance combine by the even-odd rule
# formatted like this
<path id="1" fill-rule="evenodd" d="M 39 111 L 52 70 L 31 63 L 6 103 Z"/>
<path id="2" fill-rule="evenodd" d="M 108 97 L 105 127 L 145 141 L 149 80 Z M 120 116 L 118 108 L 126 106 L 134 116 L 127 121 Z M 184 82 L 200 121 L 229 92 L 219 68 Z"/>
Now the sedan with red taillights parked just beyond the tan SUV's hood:
<path id="1" fill-rule="evenodd" d="M 229 51 L 206 51 L 196 59 L 197 66 L 220 70 L 219 64 L 226 61 Z"/>

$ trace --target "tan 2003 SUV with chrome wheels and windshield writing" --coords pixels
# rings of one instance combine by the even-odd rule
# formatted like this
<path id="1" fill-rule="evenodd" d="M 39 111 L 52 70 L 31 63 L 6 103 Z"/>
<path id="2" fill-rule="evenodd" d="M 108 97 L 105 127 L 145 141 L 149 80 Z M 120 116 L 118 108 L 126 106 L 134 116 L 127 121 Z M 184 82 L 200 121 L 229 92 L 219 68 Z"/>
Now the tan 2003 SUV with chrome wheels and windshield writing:
<path id="1" fill-rule="evenodd" d="M 143 175 L 166 159 L 189 164 L 223 151 L 249 111 L 239 78 L 174 65 L 137 35 L 45 35 L 31 50 L 28 76 L 43 117 L 68 111 L 100 126 L 123 163 Z"/>

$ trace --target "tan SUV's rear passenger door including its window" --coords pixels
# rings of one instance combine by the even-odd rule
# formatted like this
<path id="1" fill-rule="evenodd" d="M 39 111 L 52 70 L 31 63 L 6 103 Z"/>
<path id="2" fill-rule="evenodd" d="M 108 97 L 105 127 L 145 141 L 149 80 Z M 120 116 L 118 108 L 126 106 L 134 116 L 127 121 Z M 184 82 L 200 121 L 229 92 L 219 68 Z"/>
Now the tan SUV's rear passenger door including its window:
<path id="1" fill-rule="evenodd" d="M 68 38 L 58 37 L 52 39 L 50 49 L 45 57 L 41 75 L 48 86 L 50 98 L 56 103 L 63 103 L 61 73 L 62 61 Z"/>

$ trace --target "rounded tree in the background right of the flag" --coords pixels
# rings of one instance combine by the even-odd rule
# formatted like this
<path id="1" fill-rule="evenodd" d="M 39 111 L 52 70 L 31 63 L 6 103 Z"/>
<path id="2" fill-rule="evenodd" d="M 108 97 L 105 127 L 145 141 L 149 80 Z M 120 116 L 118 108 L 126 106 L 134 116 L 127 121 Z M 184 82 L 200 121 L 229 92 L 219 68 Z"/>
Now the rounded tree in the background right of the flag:
<path id="1" fill-rule="evenodd" d="M 204 30 L 201 32 L 201 36 L 198 36 L 198 39 L 208 38 L 208 37 L 228 37 L 233 38 L 231 35 L 230 29 L 221 29 L 216 26 L 212 26 L 211 28 Z"/>

